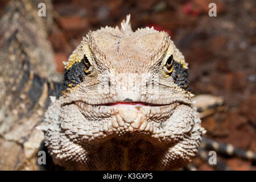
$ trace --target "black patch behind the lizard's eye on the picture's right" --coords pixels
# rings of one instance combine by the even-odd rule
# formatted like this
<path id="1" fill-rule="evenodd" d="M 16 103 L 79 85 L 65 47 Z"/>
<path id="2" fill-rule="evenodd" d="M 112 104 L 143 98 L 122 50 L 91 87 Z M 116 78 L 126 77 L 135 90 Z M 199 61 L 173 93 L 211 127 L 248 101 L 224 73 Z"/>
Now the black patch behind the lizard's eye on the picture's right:
<path id="1" fill-rule="evenodd" d="M 177 61 L 172 61 L 174 71 L 171 72 L 171 76 L 174 79 L 175 84 L 179 85 L 182 89 L 190 91 L 189 81 L 188 81 L 188 71 L 183 68 L 183 65 Z"/>

